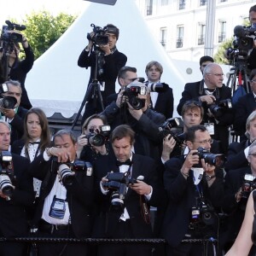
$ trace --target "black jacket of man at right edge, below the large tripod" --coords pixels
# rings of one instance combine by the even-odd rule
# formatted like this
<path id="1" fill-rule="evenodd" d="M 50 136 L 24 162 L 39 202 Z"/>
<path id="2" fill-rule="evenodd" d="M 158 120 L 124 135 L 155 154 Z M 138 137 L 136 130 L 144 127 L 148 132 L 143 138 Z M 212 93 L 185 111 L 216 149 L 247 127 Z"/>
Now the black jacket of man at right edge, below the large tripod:
<path id="1" fill-rule="evenodd" d="M 247 118 L 256 109 L 253 91 L 241 96 L 235 105 L 234 129 L 239 135 L 246 131 Z"/>

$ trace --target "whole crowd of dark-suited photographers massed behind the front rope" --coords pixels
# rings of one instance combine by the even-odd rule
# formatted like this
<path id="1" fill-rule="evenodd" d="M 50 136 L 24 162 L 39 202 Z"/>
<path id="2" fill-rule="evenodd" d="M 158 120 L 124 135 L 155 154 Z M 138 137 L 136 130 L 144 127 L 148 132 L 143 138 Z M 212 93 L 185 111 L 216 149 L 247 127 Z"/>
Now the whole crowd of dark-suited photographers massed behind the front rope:
<path id="1" fill-rule="evenodd" d="M 253 6 L 252 27 L 236 26 L 235 67 L 245 56 L 241 39 L 251 44 L 255 16 Z M 138 78 L 116 48 L 119 29 L 92 24 L 78 61 L 90 67 L 81 134 L 61 130 L 50 138 L 44 112 L 24 97 L 32 49 L 24 28 L 8 25 L 0 51 L 0 236 L 8 240 L 0 242 L 0 255 L 227 253 L 256 188 L 256 69 L 235 102 L 222 68 L 202 56 L 202 79 L 184 84 L 181 118 L 173 117 L 175 84 L 161 80 L 161 64 L 150 61 L 147 79 Z M 231 130 L 240 140 L 230 143 Z M 19 236 L 45 240 L 10 246 Z M 166 243 L 53 242 L 89 237 Z M 255 255 L 254 246 L 249 250 Z"/>

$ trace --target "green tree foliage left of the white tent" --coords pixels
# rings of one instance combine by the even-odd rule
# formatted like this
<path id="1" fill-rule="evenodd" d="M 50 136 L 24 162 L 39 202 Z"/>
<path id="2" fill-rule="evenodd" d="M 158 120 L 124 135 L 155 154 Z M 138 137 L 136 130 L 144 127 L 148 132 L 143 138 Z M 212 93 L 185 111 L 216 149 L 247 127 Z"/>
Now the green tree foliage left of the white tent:
<path id="1" fill-rule="evenodd" d="M 20 22 L 26 25 L 26 30 L 22 33 L 32 46 L 35 58 L 43 55 L 51 45 L 55 44 L 76 18 L 76 15 L 64 13 L 53 16 L 46 10 L 26 15 L 26 19 Z M 22 55 L 20 57 L 22 58 Z"/>

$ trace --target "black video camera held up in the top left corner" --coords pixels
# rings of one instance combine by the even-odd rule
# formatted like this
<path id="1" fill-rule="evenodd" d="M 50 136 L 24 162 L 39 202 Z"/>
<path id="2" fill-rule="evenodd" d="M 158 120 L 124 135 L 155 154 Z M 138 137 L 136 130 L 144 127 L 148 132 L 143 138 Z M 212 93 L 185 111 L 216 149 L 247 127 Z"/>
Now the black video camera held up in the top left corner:
<path id="1" fill-rule="evenodd" d="M 16 32 L 9 33 L 9 31 L 10 30 L 22 31 L 22 30 L 26 29 L 26 26 L 12 23 L 9 20 L 6 20 L 5 23 L 8 26 L 5 26 L 5 25 L 3 26 L 2 33 L 1 33 L 1 40 L 3 40 L 4 42 L 7 42 L 7 43 L 15 43 L 15 44 L 21 43 L 22 35 L 20 35 L 19 33 L 16 33 Z"/>

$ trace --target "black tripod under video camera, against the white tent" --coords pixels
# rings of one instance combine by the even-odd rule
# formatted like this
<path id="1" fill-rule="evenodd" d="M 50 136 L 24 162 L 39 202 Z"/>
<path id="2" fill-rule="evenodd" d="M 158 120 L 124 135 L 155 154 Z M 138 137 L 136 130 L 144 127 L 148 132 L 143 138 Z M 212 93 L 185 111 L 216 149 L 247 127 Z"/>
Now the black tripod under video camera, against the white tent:
<path id="1" fill-rule="evenodd" d="M 102 109 L 102 111 L 104 110 L 104 105 L 103 105 L 103 101 L 102 101 L 102 93 L 100 90 L 100 86 L 101 84 L 99 84 L 98 80 L 97 80 L 97 74 L 98 74 L 98 61 L 99 61 L 99 57 L 101 57 L 102 53 L 101 51 L 96 47 L 95 44 L 93 44 L 92 47 L 95 52 L 96 55 L 96 64 L 95 64 L 95 70 L 94 70 L 94 79 L 92 80 L 92 82 L 88 85 L 88 88 L 86 90 L 86 93 L 84 95 L 84 100 L 81 103 L 81 106 L 79 108 L 79 112 L 77 113 L 75 119 L 73 120 L 73 125 L 71 126 L 71 130 L 74 129 L 75 125 L 78 122 L 79 119 L 79 115 L 82 112 L 84 106 L 86 106 L 86 104 L 90 101 L 90 99 L 93 99 L 93 109 L 97 109 L 97 103 L 100 102 L 100 107 Z M 85 111 L 85 110 L 84 110 Z"/>

